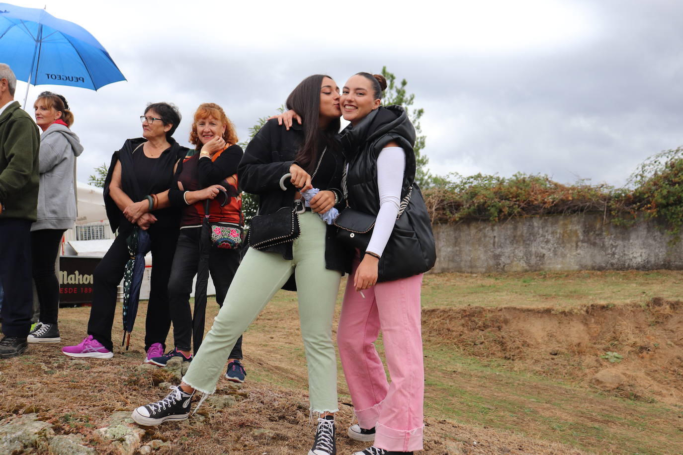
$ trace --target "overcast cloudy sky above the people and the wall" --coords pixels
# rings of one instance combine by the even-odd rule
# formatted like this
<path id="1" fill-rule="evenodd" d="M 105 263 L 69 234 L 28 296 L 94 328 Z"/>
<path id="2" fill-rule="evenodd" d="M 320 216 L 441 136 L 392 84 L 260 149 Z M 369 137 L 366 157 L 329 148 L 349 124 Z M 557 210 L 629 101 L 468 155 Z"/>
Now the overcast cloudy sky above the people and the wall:
<path id="1" fill-rule="evenodd" d="M 382 65 L 424 108 L 439 175 L 622 186 L 647 156 L 683 145 L 677 0 L 14 3 L 85 27 L 128 79 L 97 92 L 29 89 L 29 108 L 46 89 L 68 99 L 85 146 L 81 181 L 140 136 L 148 102 L 180 107 L 180 143 L 201 102 L 221 104 L 241 139 L 305 76 L 331 74 L 342 86 Z M 18 83 L 22 102 L 25 89 Z"/>

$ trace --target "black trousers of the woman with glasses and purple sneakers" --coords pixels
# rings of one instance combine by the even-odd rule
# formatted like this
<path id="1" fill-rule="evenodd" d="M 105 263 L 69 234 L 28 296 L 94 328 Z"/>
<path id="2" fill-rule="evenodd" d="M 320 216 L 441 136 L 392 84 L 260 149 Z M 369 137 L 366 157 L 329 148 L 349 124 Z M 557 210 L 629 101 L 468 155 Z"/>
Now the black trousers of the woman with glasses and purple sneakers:
<path id="1" fill-rule="evenodd" d="M 145 351 L 154 343 L 161 343 L 166 349 L 165 341 L 171 328 L 168 283 L 178 241 L 177 228 L 152 226 L 148 232 L 152 241 L 152 279 L 145 323 Z M 93 274 L 92 308 L 87 333 L 110 351 L 113 349 L 111 327 L 116 309 L 116 288 L 124 277 L 128 259 L 126 234 L 123 233 L 114 239 Z"/>

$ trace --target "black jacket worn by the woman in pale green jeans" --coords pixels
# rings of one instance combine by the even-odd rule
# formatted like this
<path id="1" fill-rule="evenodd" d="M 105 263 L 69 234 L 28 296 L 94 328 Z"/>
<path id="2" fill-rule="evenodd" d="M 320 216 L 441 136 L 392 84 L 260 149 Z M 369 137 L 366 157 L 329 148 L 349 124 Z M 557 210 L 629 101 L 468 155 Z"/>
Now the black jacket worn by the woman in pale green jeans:
<path id="1" fill-rule="evenodd" d="M 249 141 L 245 155 L 237 168 L 237 175 L 240 188 L 258 196 L 259 214 L 273 214 L 282 207 L 292 207 L 296 189 L 287 180 L 285 183 L 288 189 L 283 191 L 280 188 L 280 179 L 290 172 L 290 166 L 296 162 L 294 158 L 302 141 L 301 126 L 295 123 L 288 131 L 284 126 L 277 124 L 277 119 L 267 121 Z M 318 171 L 313 178 L 313 187 L 334 191 L 339 199 L 337 208 L 341 209 L 344 207 L 344 201 L 342 190 L 339 188 L 342 183 L 344 156 L 338 147 L 328 147 L 320 166 L 326 168 L 326 172 Z M 327 226 L 325 267 L 344 273 L 350 271 L 351 256 L 346 248 L 335 240 L 335 231 L 335 227 Z M 275 245 L 265 251 L 277 252 L 282 254 L 284 259 L 292 259 L 291 243 Z"/>

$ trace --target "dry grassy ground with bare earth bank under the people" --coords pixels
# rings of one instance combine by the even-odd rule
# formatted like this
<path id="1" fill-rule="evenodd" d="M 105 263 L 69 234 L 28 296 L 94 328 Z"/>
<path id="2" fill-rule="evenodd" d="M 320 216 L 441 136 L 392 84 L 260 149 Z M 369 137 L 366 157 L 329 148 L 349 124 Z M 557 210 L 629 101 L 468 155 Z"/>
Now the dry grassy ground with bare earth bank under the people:
<path id="1" fill-rule="evenodd" d="M 683 365 L 669 355 L 683 346 L 681 335 L 674 338 L 682 308 L 648 294 L 682 295 L 682 278 L 680 272 L 668 271 L 427 276 L 423 453 L 677 453 L 670 447 L 683 441 L 683 407 L 655 400 L 656 394 L 680 390 L 683 383 Z M 484 295 L 477 294 L 479 287 Z M 580 293 L 568 292 L 579 287 Z M 591 290 L 601 296 L 586 301 Z M 609 295 L 615 302 L 596 304 Z M 210 302 L 207 326 L 216 310 Z M 177 382 L 162 369 L 136 370 L 144 359 L 144 304 L 139 314 L 130 351 L 115 343 L 113 359 L 74 361 L 61 355 L 59 347 L 85 336 L 89 308 L 63 308 L 61 344 L 32 344 L 27 355 L 0 362 L 0 419 L 36 412 L 56 432 L 79 433 L 98 454 L 110 453 L 113 447 L 98 443 L 94 429 L 115 411 L 161 398 L 165 391 L 159 383 Z M 115 341 L 120 328 L 117 312 Z M 553 333 L 561 336 L 548 338 Z M 675 347 L 657 341 L 662 333 Z M 603 392 L 587 382 L 591 372 L 606 365 L 596 353 L 607 346 L 624 353 L 628 349 L 620 368 L 632 371 L 632 385 L 621 391 Z M 245 334 L 244 349 L 247 383 L 235 388 L 221 379 L 217 392 L 243 398 L 238 405 L 218 411 L 205 403 L 187 422 L 149 428 L 144 441 L 172 443 L 156 453 L 284 455 L 308 450 L 313 423 L 293 293 L 279 293 L 266 307 Z M 548 355 L 555 349 L 558 355 Z M 652 379 L 650 372 L 656 369 L 659 376 L 652 383 L 661 390 L 643 392 L 638 375 Z M 337 442 L 339 454 L 348 454 L 363 444 L 344 437 L 352 412 L 339 371 Z M 268 431 L 255 431 L 262 429 Z"/>

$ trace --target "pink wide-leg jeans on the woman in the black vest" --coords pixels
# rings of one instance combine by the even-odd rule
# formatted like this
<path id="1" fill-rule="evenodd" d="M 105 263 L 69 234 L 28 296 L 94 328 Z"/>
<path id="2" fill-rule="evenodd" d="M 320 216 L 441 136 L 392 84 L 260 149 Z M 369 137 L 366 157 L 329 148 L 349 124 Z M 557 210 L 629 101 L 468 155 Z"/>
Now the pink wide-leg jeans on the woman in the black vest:
<path id="1" fill-rule="evenodd" d="M 358 259 L 346 283 L 337 344 L 361 428 L 375 428 L 384 450 L 422 450 L 424 366 L 420 323 L 422 274 L 354 290 Z M 380 329 L 391 384 L 374 341 Z"/>

